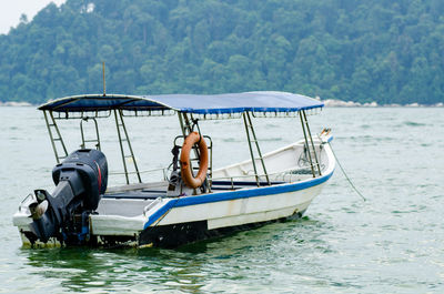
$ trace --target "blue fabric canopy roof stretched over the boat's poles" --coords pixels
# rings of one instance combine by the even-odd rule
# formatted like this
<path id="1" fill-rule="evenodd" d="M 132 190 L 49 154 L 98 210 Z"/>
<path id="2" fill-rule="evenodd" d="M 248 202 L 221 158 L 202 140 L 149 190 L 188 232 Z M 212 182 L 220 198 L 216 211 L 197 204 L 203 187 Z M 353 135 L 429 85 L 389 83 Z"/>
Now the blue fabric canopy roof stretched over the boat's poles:
<path id="1" fill-rule="evenodd" d="M 296 112 L 322 108 L 321 101 L 287 92 L 244 92 L 214 95 L 162 94 L 118 95 L 88 94 L 65 97 L 50 101 L 39 108 L 56 112 L 83 111 L 157 111 L 174 110 L 195 114 L 252 112 Z"/>

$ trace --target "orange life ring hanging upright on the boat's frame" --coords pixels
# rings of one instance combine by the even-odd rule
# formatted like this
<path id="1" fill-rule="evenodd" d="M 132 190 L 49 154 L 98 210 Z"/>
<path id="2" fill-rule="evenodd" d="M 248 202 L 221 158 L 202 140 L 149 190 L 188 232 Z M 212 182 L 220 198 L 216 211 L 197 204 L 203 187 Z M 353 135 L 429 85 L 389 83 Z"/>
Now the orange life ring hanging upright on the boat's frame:
<path id="1" fill-rule="evenodd" d="M 198 175 L 194 178 L 191 172 L 190 151 L 195 143 L 199 143 L 200 165 Z M 195 189 L 203 184 L 206 178 L 208 163 L 209 154 L 205 140 L 198 132 L 190 133 L 183 142 L 180 158 L 181 175 L 186 186 Z"/>

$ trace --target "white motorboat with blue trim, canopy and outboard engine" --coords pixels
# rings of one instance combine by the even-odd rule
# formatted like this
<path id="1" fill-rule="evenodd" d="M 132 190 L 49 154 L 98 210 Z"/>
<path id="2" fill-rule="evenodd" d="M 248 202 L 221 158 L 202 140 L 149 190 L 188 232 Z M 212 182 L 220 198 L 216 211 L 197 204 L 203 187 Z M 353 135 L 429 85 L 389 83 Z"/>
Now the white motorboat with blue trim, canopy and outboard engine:
<path id="1" fill-rule="evenodd" d="M 12 217 L 13 225 L 23 246 L 174 249 L 301 217 L 335 168 L 330 129 L 312 134 L 309 128 L 309 114 L 317 114 L 322 108 L 319 100 L 274 91 L 84 94 L 49 101 L 39 110 L 56 155 L 56 187 L 52 193 L 38 189 L 24 197 Z M 171 158 L 159 179 L 142 181 L 144 171 L 138 166 L 125 121 L 165 115 L 176 115 L 180 122 L 178 135 L 171 138 Z M 253 122 L 269 118 L 297 121 L 304 136 L 262 153 Z M 61 124 L 71 120 L 80 121 L 81 148 L 69 153 Z M 112 182 L 111 175 L 117 175 L 108 171 L 101 151 L 109 143 L 100 140 L 101 120 L 115 125 L 123 168 L 118 175 L 124 181 L 120 185 Z M 218 120 L 240 123 L 250 159 L 213 166 L 213 141 L 201 133 L 200 124 Z M 91 121 L 94 136 L 88 139 L 84 123 Z M 147 136 L 147 144 L 148 130 L 138 134 Z"/>

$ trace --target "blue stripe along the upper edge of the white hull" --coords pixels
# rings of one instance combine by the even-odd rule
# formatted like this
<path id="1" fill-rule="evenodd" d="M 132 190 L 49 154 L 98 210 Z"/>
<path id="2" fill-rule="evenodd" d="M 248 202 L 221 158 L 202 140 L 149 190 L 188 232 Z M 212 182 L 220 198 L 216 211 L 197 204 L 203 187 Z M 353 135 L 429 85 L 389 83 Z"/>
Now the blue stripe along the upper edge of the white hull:
<path id="1" fill-rule="evenodd" d="M 155 221 L 158 221 L 160 217 L 162 217 L 162 215 L 164 215 L 168 211 L 170 211 L 173 207 L 182 207 L 182 206 L 205 204 L 205 203 L 220 202 L 220 201 L 266 196 L 266 195 L 300 191 L 300 190 L 309 189 L 309 187 L 312 187 L 315 185 L 320 185 L 320 184 L 326 182 L 332 175 L 333 175 L 333 172 L 331 172 L 326 175 L 323 175 L 321 178 L 316 178 L 316 179 L 313 179 L 313 180 L 310 180 L 306 182 L 301 182 L 301 183 L 280 184 L 280 185 L 274 185 L 274 186 L 264 186 L 264 187 L 256 187 L 256 189 L 249 189 L 249 190 L 238 190 L 238 191 L 230 191 L 230 192 L 220 192 L 220 193 L 211 193 L 211 194 L 203 194 L 203 195 L 178 197 L 175 200 L 169 201 L 165 205 L 163 205 L 155 213 L 153 213 L 149 217 L 148 222 L 144 224 L 143 229 L 147 229 L 150 225 L 152 225 Z"/>

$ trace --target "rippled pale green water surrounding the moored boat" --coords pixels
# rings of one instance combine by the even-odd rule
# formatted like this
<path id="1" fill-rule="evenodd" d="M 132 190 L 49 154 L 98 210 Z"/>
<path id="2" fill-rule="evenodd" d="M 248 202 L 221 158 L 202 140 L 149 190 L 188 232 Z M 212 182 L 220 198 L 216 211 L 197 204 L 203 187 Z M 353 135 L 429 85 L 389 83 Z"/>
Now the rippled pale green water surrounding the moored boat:
<path id="1" fill-rule="evenodd" d="M 366 202 L 336 169 L 302 220 L 175 251 L 27 250 L 11 216 L 33 189 L 52 190 L 54 159 L 41 113 L 0 108 L 0 293 L 443 293 L 444 109 L 325 109 L 309 120 L 313 131 L 333 129 L 333 148 Z M 168 164 L 176 119 L 142 122 L 129 125 L 139 161 Z M 255 122 L 265 151 L 301 135 L 296 122 Z M 248 158 L 238 123 L 202 124 L 214 164 Z M 104 146 L 111 126 L 101 136 L 115 162 L 115 145 Z M 77 128 L 65 139 L 78 140 Z"/>

